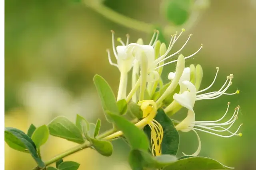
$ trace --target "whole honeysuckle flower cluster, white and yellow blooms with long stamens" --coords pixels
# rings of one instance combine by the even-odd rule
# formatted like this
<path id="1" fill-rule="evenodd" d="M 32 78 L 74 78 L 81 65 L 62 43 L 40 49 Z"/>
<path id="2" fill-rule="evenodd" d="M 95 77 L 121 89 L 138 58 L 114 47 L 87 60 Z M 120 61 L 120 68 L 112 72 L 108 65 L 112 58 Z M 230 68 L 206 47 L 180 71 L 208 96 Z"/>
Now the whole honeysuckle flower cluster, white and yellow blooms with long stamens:
<path id="1" fill-rule="evenodd" d="M 206 92 L 216 81 L 219 72 L 218 67 L 216 68 L 216 76 L 212 84 L 200 90 L 203 78 L 202 67 L 199 64 L 196 66 L 191 64 L 190 67 L 185 67 L 185 59 L 196 55 L 202 49 L 202 45 L 195 53 L 187 57 L 180 54 L 190 40 L 192 36 L 192 34 L 190 34 L 184 45 L 182 45 L 178 51 L 171 52 L 174 44 L 184 31 L 185 29 L 182 29 L 179 34 L 171 35 L 168 46 L 158 41 L 159 32 L 155 31 L 148 45 L 144 45 L 142 39 L 138 39 L 136 43 L 130 43 L 129 35 L 127 35 L 126 43 L 124 43 L 121 38 L 117 39 L 120 43 L 117 47 L 115 46 L 114 31 L 112 31 L 112 48 L 117 61 L 116 63 L 112 62 L 110 50 L 107 50 L 109 63 L 116 66 L 120 71 L 117 100 L 125 99 L 127 103 L 134 102 L 140 106 L 143 116 L 135 125 L 140 128 L 143 128 L 145 125 L 150 126 L 152 154 L 156 156 L 161 154 L 161 143 L 164 134 L 162 126 L 154 119 L 157 110 L 160 108 L 164 109 L 164 112 L 168 116 L 173 115 L 182 107 L 188 109 L 185 119 L 182 121 L 173 121 L 177 123 L 175 126 L 176 130 L 182 132 L 194 131 L 196 133 L 199 145 L 192 156 L 197 156 L 201 149 L 201 141 L 196 131 L 210 133 L 219 137 L 242 135 L 242 133 L 238 133 L 242 124 L 235 133 L 229 131 L 238 118 L 239 106 L 236 107 L 232 117 L 228 121 L 221 123 L 228 113 L 230 103 L 228 103 L 228 108 L 220 119 L 215 121 L 196 120 L 195 111 L 193 109 L 196 101 L 216 99 L 222 95 L 234 95 L 238 94 L 239 91 L 227 93 L 228 88 L 232 85 L 232 79 L 234 78 L 233 74 L 230 74 L 227 76 L 226 82 L 224 82 L 220 90 Z M 169 61 L 177 55 L 178 59 Z M 167 60 L 168 62 L 166 62 Z M 171 63 L 176 63 L 176 70 L 168 74 L 170 82 L 164 85 L 161 79 L 162 69 L 163 66 Z M 127 94 L 128 72 L 130 71 L 132 71 L 132 90 Z M 230 133 L 230 135 L 221 135 L 220 133 L 223 132 Z"/>

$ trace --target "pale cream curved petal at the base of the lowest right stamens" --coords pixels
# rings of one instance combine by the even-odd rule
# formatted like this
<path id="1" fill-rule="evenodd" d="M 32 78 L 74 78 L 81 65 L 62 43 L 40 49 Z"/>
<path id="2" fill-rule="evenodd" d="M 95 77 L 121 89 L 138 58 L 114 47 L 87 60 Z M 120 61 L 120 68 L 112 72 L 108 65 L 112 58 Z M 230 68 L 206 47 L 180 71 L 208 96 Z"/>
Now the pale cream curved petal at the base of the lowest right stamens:
<path id="1" fill-rule="evenodd" d="M 175 126 L 175 128 L 178 131 L 182 132 L 189 132 L 193 128 L 193 122 L 195 121 L 195 112 L 193 110 L 188 110 L 188 115 L 187 117 L 181 121 L 178 125 Z"/>

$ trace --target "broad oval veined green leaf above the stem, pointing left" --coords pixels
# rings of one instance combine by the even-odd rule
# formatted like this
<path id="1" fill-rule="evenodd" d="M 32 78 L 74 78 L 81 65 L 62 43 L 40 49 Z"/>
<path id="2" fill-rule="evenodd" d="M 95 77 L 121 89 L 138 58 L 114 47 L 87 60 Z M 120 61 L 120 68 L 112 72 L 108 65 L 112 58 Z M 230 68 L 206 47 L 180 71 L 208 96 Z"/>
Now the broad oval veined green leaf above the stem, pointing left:
<path id="1" fill-rule="evenodd" d="M 56 117 L 48 124 L 48 128 L 52 136 L 67 139 L 75 143 L 84 143 L 84 139 L 78 127 L 66 117 Z"/>

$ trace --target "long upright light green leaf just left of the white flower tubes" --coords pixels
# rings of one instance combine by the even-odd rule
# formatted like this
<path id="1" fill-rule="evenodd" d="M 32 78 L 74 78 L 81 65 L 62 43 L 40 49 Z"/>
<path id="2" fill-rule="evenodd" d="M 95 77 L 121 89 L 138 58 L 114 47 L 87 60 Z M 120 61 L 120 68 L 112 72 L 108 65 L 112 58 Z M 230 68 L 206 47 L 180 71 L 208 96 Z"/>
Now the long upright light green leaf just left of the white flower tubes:
<path id="1" fill-rule="evenodd" d="M 111 122 L 108 116 L 108 113 L 114 113 L 116 115 L 119 115 L 119 109 L 116 103 L 116 97 L 106 82 L 104 78 L 102 78 L 99 75 L 95 75 L 93 78 L 94 84 L 96 86 L 96 89 L 98 91 L 98 95 L 100 96 L 101 105 L 103 107 L 103 110 L 105 111 L 105 115 L 108 121 Z"/>

